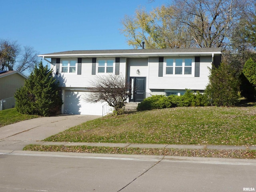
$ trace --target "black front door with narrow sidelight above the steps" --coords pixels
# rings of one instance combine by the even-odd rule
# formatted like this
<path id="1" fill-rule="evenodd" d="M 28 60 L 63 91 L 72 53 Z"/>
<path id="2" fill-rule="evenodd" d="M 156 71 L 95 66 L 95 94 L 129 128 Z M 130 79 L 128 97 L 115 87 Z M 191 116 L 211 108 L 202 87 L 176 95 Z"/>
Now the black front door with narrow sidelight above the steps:
<path id="1" fill-rule="evenodd" d="M 142 102 L 146 96 L 146 77 L 131 77 L 130 102 Z"/>

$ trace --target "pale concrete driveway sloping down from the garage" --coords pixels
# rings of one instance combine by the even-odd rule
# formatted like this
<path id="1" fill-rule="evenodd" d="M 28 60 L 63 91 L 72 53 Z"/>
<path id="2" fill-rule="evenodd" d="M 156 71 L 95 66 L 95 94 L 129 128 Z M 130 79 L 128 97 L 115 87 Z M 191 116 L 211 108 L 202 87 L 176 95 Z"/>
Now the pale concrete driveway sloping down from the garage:
<path id="1" fill-rule="evenodd" d="M 0 127 L 0 150 L 22 150 L 51 135 L 88 120 L 100 118 L 94 115 L 60 115 L 41 117 Z"/>

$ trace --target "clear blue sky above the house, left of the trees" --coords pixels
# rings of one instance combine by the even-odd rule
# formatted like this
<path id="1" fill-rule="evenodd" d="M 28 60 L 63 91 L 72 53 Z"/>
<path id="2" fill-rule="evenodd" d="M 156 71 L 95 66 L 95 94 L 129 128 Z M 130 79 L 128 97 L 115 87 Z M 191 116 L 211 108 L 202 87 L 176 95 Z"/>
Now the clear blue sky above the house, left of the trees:
<path id="1" fill-rule="evenodd" d="M 0 39 L 40 54 L 67 50 L 132 49 L 121 20 L 139 6 L 150 11 L 169 0 L 0 0 Z"/>

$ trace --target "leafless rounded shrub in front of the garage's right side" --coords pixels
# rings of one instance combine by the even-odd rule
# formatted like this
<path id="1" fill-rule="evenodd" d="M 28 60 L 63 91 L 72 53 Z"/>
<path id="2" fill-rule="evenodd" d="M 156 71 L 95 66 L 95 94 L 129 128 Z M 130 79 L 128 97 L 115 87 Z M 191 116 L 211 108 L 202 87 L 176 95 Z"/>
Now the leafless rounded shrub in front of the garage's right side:
<path id="1" fill-rule="evenodd" d="M 114 108 L 114 113 L 120 115 L 129 97 L 129 84 L 122 75 L 98 77 L 92 82 L 92 92 L 84 98 L 87 102 L 107 102 Z"/>

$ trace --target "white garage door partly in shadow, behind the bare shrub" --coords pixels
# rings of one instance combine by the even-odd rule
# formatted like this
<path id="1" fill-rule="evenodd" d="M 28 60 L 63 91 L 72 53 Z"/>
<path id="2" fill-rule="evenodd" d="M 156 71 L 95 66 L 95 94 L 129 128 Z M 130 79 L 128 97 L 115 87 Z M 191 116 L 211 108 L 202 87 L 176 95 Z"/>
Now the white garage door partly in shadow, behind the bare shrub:
<path id="1" fill-rule="evenodd" d="M 106 102 L 90 103 L 84 98 L 89 92 L 65 91 L 64 114 L 102 115 L 102 106 Z"/>

